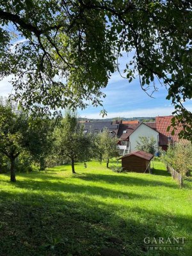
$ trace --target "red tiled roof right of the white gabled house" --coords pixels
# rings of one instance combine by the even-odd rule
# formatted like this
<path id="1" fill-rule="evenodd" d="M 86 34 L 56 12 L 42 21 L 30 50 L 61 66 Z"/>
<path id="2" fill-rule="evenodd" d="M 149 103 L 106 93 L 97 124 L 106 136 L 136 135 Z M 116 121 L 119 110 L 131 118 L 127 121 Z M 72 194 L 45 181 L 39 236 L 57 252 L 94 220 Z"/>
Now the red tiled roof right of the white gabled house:
<path id="1" fill-rule="evenodd" d="M 172 135 L 173 128 L 167 131 L 167 127 L 171 125 L 173 116 L 156 116 L 156 129 L 159 132 L 159 145 L 168 145 L 169 137 L 172 141 L 179 140 L 179 132 L 182 131 L 182 125 L 178 125 L 175 134 Z M 181 141 L 181 140 L 180 140 Z"/>

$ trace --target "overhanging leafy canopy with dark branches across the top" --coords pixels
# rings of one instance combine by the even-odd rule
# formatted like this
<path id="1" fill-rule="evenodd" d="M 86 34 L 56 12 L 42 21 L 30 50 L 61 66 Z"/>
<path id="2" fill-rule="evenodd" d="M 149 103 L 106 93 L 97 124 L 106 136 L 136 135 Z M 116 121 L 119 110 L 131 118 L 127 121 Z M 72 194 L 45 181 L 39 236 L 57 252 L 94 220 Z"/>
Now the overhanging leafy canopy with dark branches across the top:
<path id="1" fill-rule="evenodd" d="M 168 89 L 182 136 L 191 138 L 191 1 L 13 0 L 0 2 L 1 78 L 12 75 L 23 108 L 101 104 L 102 88 L 127 52 L 125 77 L 147 93 Z M 17 39 L 26 39 L 13 44 Z M 130 57 L 130 53 L 133 57 Z M 130 58 L 131 60 L 130 60 Z M 152 91 L 148 89 L 152 87 Z"/>

